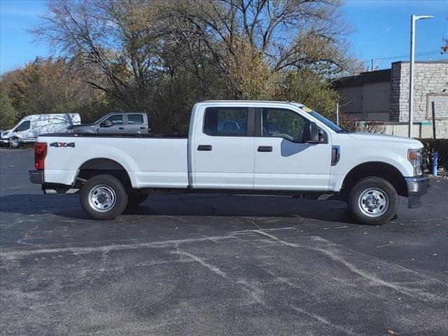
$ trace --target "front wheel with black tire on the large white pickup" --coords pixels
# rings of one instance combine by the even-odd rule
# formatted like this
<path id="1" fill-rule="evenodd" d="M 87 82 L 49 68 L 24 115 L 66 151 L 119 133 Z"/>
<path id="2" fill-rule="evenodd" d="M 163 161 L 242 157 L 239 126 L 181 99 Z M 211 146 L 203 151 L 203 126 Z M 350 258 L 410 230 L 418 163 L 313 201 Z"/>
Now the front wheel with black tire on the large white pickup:
<path id="1" fill-rule="evenodd" d="M 381 204 L 384 205 L 381 207 Z M 351 189 L 347 205 L 358 223 L 382 225 L 397 213 L 398 193 L 389 181 L 366 177 Z"/>

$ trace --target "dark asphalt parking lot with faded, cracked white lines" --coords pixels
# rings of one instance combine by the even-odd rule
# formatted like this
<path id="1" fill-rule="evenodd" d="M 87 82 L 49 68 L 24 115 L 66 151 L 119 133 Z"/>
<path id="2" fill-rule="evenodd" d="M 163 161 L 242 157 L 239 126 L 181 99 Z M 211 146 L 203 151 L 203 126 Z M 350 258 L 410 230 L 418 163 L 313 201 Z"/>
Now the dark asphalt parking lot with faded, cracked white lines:
<path id="1" fill-rule="evenodd" d="M 31 149 L 0 155 L 1 335 L 448 335 L 446 179 L 380 227 L 228 195 L 100 222 L 29 183 Z"/>

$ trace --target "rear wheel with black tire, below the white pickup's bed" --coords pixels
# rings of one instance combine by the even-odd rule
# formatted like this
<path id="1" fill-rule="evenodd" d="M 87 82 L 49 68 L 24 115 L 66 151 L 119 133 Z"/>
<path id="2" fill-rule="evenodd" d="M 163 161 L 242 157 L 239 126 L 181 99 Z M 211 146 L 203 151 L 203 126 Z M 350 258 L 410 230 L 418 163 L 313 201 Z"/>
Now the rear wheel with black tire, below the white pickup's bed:
<path id="1" fill-rule="evenodd" d="M 127 193 L 115 176 L 97 175 L 81 188 L 80 202 L 87 215 L 99 221 L 116 218 L 126 208 Z M 100 209 L 104 207 L 104 209 Z"/>

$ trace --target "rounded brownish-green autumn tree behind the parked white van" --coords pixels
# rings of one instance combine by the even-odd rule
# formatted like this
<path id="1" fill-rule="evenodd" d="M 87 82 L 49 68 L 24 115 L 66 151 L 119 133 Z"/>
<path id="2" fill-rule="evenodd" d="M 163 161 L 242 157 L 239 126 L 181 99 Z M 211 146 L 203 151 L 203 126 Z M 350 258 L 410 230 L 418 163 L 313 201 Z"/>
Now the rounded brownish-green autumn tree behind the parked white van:
<path id="1" fill-rule="evenodd" d="M 86 73 L 76 58 L 42 59 L 3 75 L 2 88 L 18 116 L 40 113 L 80 113 L 85 121 L 107 111 L 103 92 L 85 83 Z"/>

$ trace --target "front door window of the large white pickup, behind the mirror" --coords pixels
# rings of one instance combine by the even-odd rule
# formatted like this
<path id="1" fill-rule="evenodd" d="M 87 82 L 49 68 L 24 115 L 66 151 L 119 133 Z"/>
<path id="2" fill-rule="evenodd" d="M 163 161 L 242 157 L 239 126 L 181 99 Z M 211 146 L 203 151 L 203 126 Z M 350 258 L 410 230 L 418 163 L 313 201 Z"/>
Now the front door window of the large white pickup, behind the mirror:
<path id="1" fill-rule="evenodd" d="M 262 109 L 262 136 L 302 142 L 307 120 L 287 109 Z"/>

